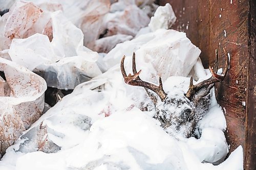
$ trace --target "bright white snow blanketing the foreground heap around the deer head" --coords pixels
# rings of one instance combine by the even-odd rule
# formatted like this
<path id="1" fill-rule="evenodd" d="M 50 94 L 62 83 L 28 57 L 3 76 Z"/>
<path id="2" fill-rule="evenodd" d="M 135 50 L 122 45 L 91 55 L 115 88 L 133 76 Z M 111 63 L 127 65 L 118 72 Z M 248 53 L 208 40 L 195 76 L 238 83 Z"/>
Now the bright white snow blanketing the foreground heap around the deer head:
<path id="1" fill-rule="evenodd" d="M 65 96 L 61 102 L 42 115 L 33 127 L 7 150 L 0 167 L 8 165 L 9 169 L 21 170 L 114 167 L 242 169 L 241 148 L 218 166 L 201 163 L 216 162 L 223 159 L 228 152 L 223 133 L 226 123 L 223 122 L 223 112 L 214 96 L 209 113 L 214 112 L 211 119 L 218 119 L 218 123 L 209 127 L 205 124 L 208 120 L 203 119 L 200 122 L 200 139 L 191 137 L 178 141 L 165 133 L 160 123 L 152 117 L 154 110 L 139 109 L 141 104 L 138 101 L 146 101 L 143 88 L 125 85 L 118 69 L 107 71 L 103 75 L 78 85 L 73 93 Z M 175 80 L 185 82 L 182 85 L 184 87 L 188 86 L 189 78 L 170 77 L 164 83 L 164 88 L 179 86 L 180 82 Z M 95 86 L 99 85 L 104 88 L 103 91 L 98 92 L 95 89 Z M 137 101 L 134 98 L 137 98 Z M 36 138 L 40 127 L 47 127 L 43 139 L 47 139 L 45 145 L 50 145 L 50 141 L 51 145 L 55 146 L 51 148 L 54 150 L 41 149 Z"/>

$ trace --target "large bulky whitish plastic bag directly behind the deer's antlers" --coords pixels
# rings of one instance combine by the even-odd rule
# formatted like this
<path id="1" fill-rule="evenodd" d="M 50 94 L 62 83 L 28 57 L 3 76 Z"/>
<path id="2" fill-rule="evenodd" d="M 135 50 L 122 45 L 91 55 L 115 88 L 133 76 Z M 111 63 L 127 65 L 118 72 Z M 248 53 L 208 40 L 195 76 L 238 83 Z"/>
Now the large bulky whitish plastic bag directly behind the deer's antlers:
<path id="1" fill-rule="evenodd" d="M 143 34 L 133 40 L 117 44 L 103 60 L 110 68 L 116 64 L 119 65 L 123 55 L 131 57 L 133 52 L 137 56 L 138 70 L 143 67 L 142 78 L 144 74 L 153 74 L 161 76 L 163 81 L 170 76 L 186 77 L 201 53 L 199 48 L 186 37 L 185 33 L 159 29 L 153 33 Z M 129 58 L 126 62 L 129 63 Z M 143 66 L 145 62 L 148 65 L 152 63 L 153 69 L 145 68 Z M 147 79 L 148 76 L 143 80 L 146 81 Z"/>

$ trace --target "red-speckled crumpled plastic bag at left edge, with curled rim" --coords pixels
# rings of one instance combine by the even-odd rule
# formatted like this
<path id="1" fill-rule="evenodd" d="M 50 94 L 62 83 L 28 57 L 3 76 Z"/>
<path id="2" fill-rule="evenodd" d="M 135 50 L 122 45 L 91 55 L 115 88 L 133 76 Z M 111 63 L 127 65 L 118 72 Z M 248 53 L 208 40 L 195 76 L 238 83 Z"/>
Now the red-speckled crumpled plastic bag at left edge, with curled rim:
<path id="1" fill-rule="evenodd" d="M 44 79 L 12 61 L 0 58 L 0 154 L 42 114 L 45 105 Z"/>

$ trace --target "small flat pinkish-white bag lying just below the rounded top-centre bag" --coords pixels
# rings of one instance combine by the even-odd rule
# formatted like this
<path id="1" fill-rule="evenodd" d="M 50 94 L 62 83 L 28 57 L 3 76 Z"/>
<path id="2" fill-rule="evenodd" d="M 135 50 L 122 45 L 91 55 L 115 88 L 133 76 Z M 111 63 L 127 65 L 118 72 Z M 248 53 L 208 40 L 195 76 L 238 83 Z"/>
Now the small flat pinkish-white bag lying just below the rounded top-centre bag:
<path id="1" fill-rule="evenodd" d="M 112 48 L 116 46 L 116 44 L 131 40 L 132 38 L 133 36 L 124 34 L 103 37 L 96 40 L 93 51 L 96 51 L 98 53 L 109 53 Z"/>

